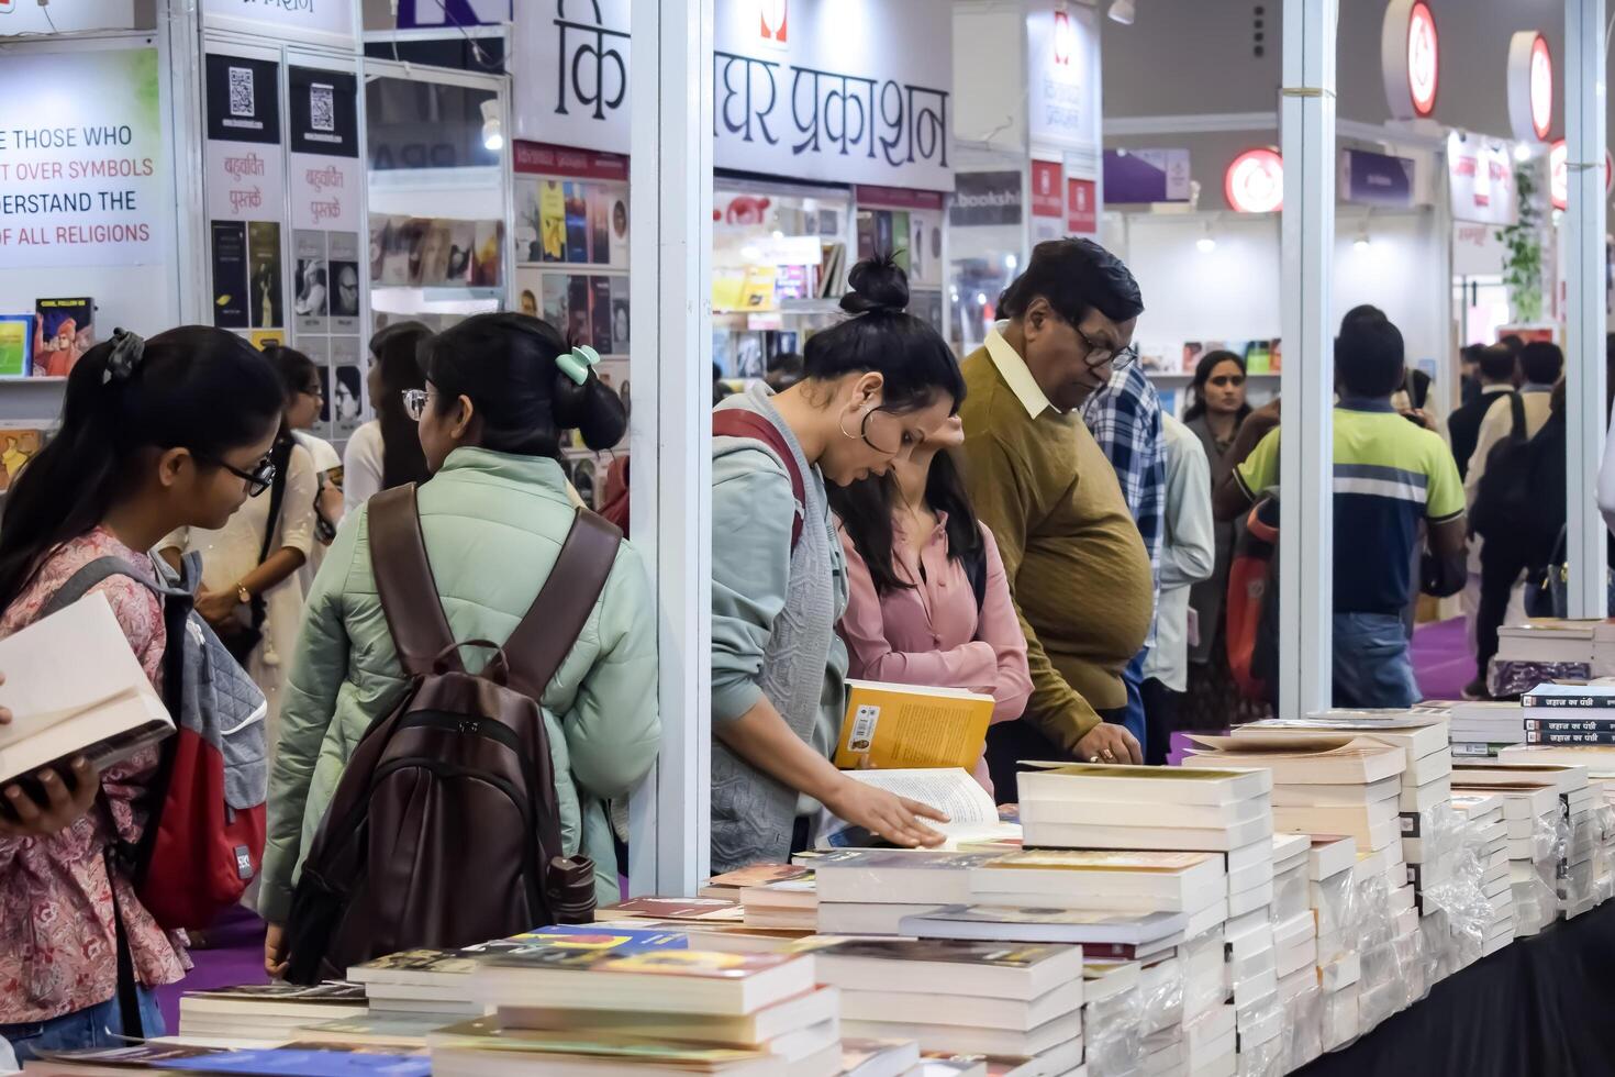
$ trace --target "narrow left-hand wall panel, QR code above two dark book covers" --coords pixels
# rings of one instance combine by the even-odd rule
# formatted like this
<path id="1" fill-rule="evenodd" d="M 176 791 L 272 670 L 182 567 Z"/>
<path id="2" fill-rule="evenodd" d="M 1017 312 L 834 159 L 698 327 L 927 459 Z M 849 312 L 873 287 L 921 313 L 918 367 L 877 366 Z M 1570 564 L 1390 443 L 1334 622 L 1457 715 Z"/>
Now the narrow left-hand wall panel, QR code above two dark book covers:
<path id="1" fill-rule="evenodd" d="M 281 65 L 208 53 L 207 191 L 213 325 L 286 326 Z"/>

